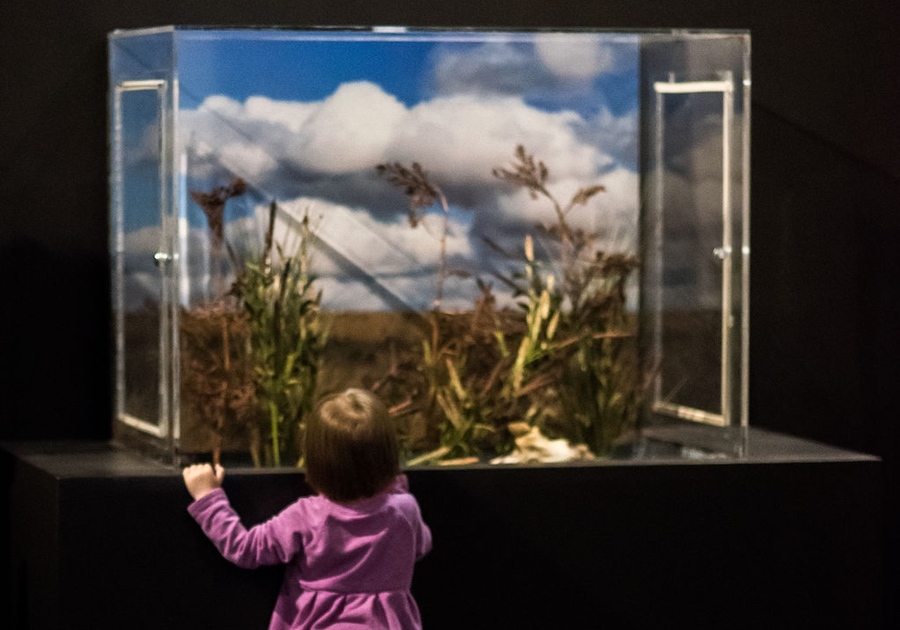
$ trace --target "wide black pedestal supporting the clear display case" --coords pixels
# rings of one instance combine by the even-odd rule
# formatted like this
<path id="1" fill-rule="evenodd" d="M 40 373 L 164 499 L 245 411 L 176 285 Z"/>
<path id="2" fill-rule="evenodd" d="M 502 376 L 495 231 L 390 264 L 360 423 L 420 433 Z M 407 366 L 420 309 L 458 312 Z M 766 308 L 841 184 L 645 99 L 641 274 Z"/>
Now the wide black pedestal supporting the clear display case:
<path id="1" fill-rule="evenodd" d="M 278 568 L 224 561 L 180 471 L 106 443 L 6 444 L 12 627 L 264 628 Z M 425 627 L 878 628 L 881 464 L 751 430 L 741 459 L 408 471 L 434 534 Z M 302 473 L 229 470 L 245 523 Z"/>

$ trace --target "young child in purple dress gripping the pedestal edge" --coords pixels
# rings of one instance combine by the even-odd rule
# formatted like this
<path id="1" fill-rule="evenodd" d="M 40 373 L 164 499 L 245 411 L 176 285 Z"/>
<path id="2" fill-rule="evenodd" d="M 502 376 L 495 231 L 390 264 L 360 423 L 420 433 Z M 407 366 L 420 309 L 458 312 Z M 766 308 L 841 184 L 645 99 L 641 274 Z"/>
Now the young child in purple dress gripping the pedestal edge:
<path id="1" fill-rule="evenodd" d="M 307 422 L 306 480 L 317 493 L 246 529 L 222 489 L 225 470 L 184 469 L 188 512 L 238 566 L 286 564 L 272 629 L 421 628 L 410 592 L 431 530 L 400 474 L 388 412 L 348 389 L 319 402 Z"/>

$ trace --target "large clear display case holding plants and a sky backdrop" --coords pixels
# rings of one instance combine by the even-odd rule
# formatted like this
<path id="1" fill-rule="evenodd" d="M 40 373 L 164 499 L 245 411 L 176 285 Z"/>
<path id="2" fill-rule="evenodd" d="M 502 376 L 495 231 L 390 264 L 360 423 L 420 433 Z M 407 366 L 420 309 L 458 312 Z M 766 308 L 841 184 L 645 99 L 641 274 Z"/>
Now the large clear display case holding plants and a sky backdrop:
<path id="1" fill-rule="evenodd" d="M 749 33 L 169 26 L 109 81 L 118 441 L 295 466 L 353 386 L 409 465 L 742 452 Z"/>

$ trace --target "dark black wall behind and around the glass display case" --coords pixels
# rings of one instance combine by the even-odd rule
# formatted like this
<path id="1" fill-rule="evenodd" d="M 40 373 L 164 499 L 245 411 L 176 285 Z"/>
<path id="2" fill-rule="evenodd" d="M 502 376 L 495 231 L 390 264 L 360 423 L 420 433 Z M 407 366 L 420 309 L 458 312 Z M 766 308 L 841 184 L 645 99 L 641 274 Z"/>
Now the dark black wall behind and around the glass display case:
<path id="1" fill-rule="evenodd" d="M 0 439 L 110 436 L 106 34 L 173 23 L 750 29 L 750 422 L 884 459 L 900 619 L 900 2 L 0 3 Z"/>

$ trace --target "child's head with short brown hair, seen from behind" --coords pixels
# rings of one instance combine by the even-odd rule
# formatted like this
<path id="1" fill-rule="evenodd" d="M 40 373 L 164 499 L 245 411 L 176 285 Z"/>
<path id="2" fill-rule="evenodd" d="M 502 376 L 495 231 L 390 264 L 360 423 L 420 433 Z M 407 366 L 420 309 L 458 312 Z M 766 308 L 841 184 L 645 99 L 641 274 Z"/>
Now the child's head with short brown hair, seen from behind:
<path id="1" fill-rule="evenodd" d="M 374 394 L 348 389 L 323 398 L 306 423 L 306 480 L 335 501 L 378 494 L 400 472 L 397 435 Z"/>

